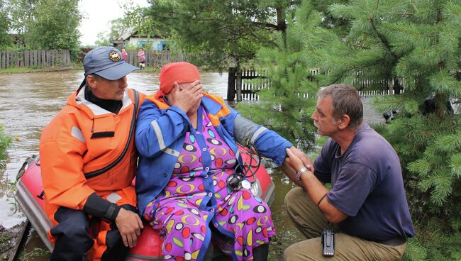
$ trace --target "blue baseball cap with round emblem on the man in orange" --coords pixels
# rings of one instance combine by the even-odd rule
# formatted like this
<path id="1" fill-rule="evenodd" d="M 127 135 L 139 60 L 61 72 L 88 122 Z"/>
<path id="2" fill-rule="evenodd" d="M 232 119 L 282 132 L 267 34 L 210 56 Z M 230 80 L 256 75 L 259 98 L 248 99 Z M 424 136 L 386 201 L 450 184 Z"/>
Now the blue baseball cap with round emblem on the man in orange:
<path id="1" fill-rule="evenodd" d="M 121 52 L 113 47 L 101 46 L 89 51 L 83 58 L 85 77 L 89 74 L 98 74 L 104 79 L 120 79 L 121 77 L 139 70 L 123 60 Z"/>

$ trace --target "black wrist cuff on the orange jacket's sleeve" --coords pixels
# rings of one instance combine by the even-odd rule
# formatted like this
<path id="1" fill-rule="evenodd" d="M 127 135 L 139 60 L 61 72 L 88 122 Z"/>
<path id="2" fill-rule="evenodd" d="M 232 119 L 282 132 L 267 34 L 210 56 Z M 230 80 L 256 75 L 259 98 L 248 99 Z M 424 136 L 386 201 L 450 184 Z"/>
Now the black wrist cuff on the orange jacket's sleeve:
<path id="1" fill-rule="evenodd" d="M 87 202 L 83 206 L 83 211 L 96 218 L 103 218 L 109 222 L 115 222 L 120 206 L 101 198 L 101 196 L 93 193 L 87 199 Z"/>

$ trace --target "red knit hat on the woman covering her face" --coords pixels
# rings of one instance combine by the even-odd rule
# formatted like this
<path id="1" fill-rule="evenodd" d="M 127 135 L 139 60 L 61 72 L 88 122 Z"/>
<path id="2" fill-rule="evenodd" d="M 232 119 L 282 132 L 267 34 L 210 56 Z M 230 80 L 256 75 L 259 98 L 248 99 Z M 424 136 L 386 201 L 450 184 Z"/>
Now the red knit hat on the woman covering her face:
<path id="1" fill-rule="evenodd" d="M 164 96 L 174 87 L 174 82 L 184 84 L 200 80 L 199 70 L 189 62 L 171 62 L 160 71 L 160 90 L 155 96 Z M 160 92 L 160 94 L 159 94 Z"/>

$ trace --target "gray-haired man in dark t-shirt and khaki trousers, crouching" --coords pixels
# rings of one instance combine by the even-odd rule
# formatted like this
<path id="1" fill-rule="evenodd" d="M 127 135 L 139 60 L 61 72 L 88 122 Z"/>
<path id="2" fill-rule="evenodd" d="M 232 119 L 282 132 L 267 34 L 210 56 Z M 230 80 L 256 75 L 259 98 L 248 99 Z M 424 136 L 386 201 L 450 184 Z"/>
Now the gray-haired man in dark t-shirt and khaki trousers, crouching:
<path id="1" fill-rule="evenodd" d="M 284 260 L 329 258 L 319 237 L 328 223 L 340 260 L 399 260 L 415 232 L 394 148 L 363 122 L 353 87 L 321 89 L 311 118 L 318 134 L 330 139 L 313 165 L 287 152 L 283 170 L 299 188 L 289 191 L 285 205 L 307 240 L 287 248 Z"/>

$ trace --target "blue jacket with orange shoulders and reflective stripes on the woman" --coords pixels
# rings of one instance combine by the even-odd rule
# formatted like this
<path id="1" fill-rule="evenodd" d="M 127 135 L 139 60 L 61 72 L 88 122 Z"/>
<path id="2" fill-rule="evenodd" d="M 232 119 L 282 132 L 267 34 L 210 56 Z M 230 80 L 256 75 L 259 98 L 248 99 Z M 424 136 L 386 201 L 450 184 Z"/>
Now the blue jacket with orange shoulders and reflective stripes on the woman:
<path id="1" fill-rule="evenodd" d="M 270 157 L 277 165 L 282 165 L 286 157 L 285 148 L 292 146 L 288 140 L 239 116 L 221 97 L 204 94 L 201 106 L 240 164 L 242 158 L 234 132 L 240 132 L 239 142 L 242 142 L 241 133 L 247 133 L 248 141 L 262 156 Z M 135 187 L 141 214 L 170 181 L 185 135 L 191 129 L 189 126 L 191 122 L 184 111 L 155 99 L 153 95 L 146 97 L 140 107 L 135 135 L 140 154 Z"/>

